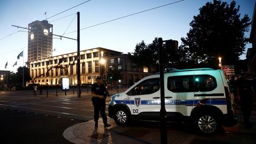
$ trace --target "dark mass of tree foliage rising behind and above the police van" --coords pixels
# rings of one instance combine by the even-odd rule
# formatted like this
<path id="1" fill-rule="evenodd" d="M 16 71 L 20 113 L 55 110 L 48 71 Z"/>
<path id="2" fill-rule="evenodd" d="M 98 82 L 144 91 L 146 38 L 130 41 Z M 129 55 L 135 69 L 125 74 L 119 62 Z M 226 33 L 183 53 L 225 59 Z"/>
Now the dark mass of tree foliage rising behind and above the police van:
<path id="1" fill-rule="evenodd" d="M 249 28 L 249 17 L 239 14 L 239 5 L 213 0 L 199 9 L 190 23 L 187 37 L 181 38 L 178 52 L 167 53 L 164 49 L 165 68 L 218 68 L 222 57 L 223 65 L 233 65 L 244 53 L 245 32 Z M 146 44 L 143 40 L 136 44 L 135 52 L 129 53 L 136 66 L 147 66 L 152 72 L 158 72 L 158 39 Z"/>

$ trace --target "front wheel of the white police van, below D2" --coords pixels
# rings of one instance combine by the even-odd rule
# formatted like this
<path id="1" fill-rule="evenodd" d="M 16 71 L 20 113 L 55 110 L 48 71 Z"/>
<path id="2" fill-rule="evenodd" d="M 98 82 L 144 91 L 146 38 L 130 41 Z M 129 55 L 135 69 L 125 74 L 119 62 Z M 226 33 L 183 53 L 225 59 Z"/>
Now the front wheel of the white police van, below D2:
<path id="1" fill-rule="evenodd" d="M 114 112 L 114 120 L 119 126 L 126 126 L 130 121 L 130 115 L 126 109 L 120 108 Z"/>

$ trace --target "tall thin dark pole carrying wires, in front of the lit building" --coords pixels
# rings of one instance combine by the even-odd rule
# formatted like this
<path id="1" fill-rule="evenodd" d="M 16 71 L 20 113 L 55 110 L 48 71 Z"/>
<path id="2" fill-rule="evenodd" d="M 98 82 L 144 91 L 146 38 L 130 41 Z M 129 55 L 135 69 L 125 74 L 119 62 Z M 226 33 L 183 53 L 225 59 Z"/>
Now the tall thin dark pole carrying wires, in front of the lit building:
<path id="1" fill-rule="evenodd" d="M 77 36 L 77 44 L 78 44 L 78 55 L 77 55 L 77 81 L 78 81 L 78 98 L 81 97 L 81 73 L 80 73 L 80 12 L 77 13 L 78 15 L 78 36 Z"/>

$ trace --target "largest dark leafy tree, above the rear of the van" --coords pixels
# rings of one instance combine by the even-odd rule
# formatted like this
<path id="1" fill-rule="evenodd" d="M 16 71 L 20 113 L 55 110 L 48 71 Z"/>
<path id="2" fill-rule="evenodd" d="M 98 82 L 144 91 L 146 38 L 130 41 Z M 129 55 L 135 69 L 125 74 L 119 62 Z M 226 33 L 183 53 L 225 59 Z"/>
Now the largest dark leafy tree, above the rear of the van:
<path id="1" fill-rule="evenodd" d="M 232 1 L 214 0 L 201 7 L 200 14 L 191 21 L 191 29 L 186 38 L 181 38 L 180 52 L 184 56 L 181 62 L 216 67 L 218 57 L 223 64 L 234 64 L 245 51 L 248 39 L 244 33 L 249 28 L 249 17 L 240 18 L 239 5 Z"/>

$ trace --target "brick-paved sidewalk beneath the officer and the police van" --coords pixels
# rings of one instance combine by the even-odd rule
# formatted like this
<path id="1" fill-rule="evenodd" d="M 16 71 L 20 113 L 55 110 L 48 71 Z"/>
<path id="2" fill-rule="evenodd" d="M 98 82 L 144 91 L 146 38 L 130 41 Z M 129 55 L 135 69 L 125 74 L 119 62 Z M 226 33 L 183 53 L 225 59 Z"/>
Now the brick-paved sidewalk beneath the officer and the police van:
<path id="1" fill-rule="evenodd" d="M 238 114 L 238 124 L 224 127 L 223 133 L 210 137 L 196 135 L 191 130 L 176 130 L 167 126 L 168 143 L 256 143 L 256 105 L 251 116 L 251 122 L 254 124 L 252 128 L 245 127 L 241 111 L 238 110 Z M 120 127 L 111 118 L 108 118 L 108 123 L 111 127 L 107 129 L 104 129 L 102 119 L 99 120 L 98 128 L 94 127 L 94 120 L 78 123 L 66 129 L 63 136 L 72 143 L 161 143 L 158 124 Z"/>

